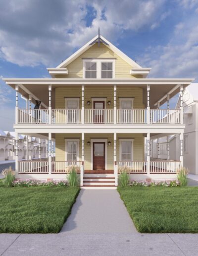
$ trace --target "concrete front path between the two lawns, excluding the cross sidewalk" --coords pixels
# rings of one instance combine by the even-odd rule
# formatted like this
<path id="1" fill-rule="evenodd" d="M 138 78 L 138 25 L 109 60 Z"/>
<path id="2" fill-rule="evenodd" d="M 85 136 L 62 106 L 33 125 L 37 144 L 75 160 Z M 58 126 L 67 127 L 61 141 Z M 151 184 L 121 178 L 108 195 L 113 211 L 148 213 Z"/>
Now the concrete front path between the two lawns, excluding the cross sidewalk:
<path id="1" fill-rule="evenodd" d="M 70 234 L 137 233 L 116 190 L 84 189 L 80 191 L 71 215 L 61 232 Z"/>

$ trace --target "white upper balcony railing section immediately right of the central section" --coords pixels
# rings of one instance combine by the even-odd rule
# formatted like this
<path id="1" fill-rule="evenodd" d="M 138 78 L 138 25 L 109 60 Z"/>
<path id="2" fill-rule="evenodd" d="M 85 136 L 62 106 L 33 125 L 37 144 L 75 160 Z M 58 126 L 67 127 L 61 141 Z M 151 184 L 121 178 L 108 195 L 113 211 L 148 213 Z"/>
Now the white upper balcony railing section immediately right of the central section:
<path id="1" fill-rule="evenodd" d="M 146 109 L 118 109 L 117 124 L 146 124 Z"/>

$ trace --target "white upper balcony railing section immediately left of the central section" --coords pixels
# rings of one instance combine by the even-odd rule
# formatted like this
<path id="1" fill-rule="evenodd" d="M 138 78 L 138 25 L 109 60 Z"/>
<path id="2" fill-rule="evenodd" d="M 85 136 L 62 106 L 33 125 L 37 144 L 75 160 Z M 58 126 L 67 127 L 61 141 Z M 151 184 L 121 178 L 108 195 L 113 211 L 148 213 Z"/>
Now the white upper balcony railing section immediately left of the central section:
<path id="1" fill-rule="evenodd" d="M 52 109 L 52 124 L 80 124 L 80 109 Z"/>

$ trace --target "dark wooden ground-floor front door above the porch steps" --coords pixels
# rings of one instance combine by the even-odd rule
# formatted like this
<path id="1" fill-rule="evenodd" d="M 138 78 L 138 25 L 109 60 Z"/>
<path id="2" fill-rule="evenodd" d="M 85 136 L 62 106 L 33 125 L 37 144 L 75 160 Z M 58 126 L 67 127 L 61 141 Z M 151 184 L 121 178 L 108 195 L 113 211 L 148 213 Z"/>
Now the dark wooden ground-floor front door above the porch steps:
<path id="1" fill-rule="evenodd" d="M 93 142 L 93 170 L 105 170 L 105 142 Z"/>

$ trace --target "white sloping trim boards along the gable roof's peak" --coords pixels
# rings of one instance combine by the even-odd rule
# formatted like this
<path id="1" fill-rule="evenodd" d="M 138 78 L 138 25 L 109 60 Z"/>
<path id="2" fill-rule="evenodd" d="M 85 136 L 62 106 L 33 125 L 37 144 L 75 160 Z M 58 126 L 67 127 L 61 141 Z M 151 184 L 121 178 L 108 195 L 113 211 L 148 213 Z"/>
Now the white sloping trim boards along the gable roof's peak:
<path id="1" fill-rule="evenodd" d="M 112 52 L 116 53 L 120 58 L 122 58 L 125 62 L 130 64 L 131 66 L 134 66 L 135 68 L 142 68 L 139 64 L 134 62 L 131 58 L 129 58 L 126 54 L 121 52 L 117 47 L 115 47 L 113 44 L 111 44 L 106 38 L 104 38 L 101 35 L 97 35 L 92 40 L 90 40 L 87 44 L 85 44 L 83 47 L 81 47 L 78 51 L 76 51 L 74 54 L 72 54 L 69 58 L 67 58 L 64 62 L 56 66 L 56 68 L 64 68 L 71 62 L 73 62 L 75 59 L 77 59 L 81 54 L 86 52 L 89 48 L 91 48 L 94 44 L 97 43 L 97 39 L 101 39 L 101 43 L 104 44 L 106 47 L 108 47 Z M 103 43 L 104 41 L 105 43 Z M 94 44 L 93 44 L 94 42 Z"/>

